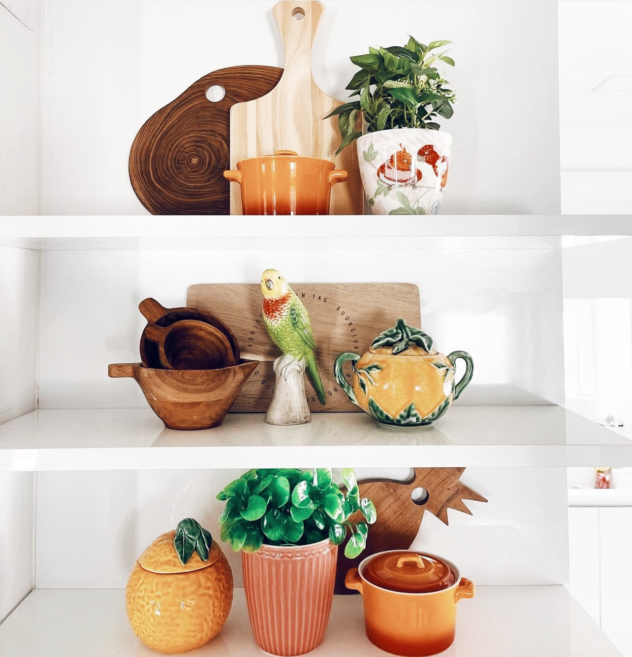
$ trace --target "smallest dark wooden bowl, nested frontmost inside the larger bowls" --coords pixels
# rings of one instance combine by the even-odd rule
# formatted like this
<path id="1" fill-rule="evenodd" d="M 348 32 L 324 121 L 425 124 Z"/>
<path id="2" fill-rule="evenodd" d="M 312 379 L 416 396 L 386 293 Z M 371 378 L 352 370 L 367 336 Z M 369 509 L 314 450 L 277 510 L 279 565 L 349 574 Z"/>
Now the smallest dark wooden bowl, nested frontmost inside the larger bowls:
<path id="1" fill-rule="evenodd" d="M 148 324 L 146 336 L 158 345 L 160 364 L 166 369 L 219 369 L 236 365 L 226 336 L 196 319 L 182 319 L 169 327 Z"/>

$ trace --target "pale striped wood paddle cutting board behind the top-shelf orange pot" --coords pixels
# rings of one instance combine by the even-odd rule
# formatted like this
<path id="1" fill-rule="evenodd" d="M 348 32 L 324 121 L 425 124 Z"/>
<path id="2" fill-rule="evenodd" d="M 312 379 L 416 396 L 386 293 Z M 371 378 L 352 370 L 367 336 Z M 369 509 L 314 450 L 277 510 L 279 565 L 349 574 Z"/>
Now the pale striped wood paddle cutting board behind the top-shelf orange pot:
<path id="1" fill-rule="evenodd" d="M 341 142 L 338 117 L 323 120 L 343 101 L 327 96 L 312 78 L 312 43 L 324 11 L 317 0 L 282 0 L 274 5 L 272 14 L 285 49 L 284 72 L 270 93 L 230 108 L 230 168 L 235 170 L 240 160 L 277 150 L 331 160 L 349 175 L 331 188 L 329 214 L 363 214 L 356 145 L 334 157 Z M 236 183 L 230 189 L 230 214 L 242 214 Z"/>

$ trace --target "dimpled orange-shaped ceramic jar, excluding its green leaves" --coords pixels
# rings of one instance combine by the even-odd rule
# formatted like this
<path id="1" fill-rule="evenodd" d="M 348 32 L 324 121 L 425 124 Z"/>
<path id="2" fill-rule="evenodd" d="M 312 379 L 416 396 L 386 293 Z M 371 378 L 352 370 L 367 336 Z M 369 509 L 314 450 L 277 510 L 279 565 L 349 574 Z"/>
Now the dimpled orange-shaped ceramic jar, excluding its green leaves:
<path id="1" fill-rule="evenodd" d="M 163 653 L 211 641 L 226 622 L 233 594 L 232 572 L 219 545 L 211 543 L 207 561 L 194 553 L 182 565 L 174 535 L 163 533 L 140 555 L 125 590 L 134 633 Z"/>

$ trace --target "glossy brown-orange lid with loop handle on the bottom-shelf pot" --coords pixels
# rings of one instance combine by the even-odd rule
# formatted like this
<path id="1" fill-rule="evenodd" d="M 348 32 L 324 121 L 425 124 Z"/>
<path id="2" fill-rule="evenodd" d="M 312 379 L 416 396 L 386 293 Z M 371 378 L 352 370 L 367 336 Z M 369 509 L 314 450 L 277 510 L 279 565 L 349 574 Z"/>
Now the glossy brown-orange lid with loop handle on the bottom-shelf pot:
<path id="1" fill-rule="evenodd" d="M 362 576 L 375 586 L 398 593 L 434 593 L 450 588 L 456 581 L 443 559 L 410 550 L 375 555 L 364 566 Z"/>

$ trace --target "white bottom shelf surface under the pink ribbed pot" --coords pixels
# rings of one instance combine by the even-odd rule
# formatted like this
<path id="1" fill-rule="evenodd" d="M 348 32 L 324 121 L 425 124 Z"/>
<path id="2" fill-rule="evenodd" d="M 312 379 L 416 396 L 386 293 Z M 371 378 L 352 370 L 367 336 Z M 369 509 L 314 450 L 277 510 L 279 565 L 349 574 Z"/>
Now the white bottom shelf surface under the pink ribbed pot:
<path id="1" fill-rule="evenodd" d="M 364 633 L 362 597 L 335 595 L 325 639 L 314 657 L 385 655 Z M 243 589 L 226 625 L 196 655 L 260 657 Z M 35 589 L 0 625 L 0 657 L 155 656 L 131 631 L 122 590 Z M 478 587 L 457 605 L 456 637 L 444 657 L 621 657 L 560 585 Z"/>

